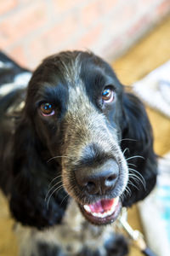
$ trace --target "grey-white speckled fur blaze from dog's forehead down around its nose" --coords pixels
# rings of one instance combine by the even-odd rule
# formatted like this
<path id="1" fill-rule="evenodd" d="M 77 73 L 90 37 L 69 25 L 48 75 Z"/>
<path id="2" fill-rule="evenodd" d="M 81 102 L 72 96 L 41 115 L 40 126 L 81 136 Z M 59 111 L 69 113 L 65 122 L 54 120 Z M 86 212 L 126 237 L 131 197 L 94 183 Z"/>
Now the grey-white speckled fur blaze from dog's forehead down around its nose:
<path id="1" fill-rule="evenodd" d="M 109 130 L 105 114 L 100 113 L 89 100 L 85 84 L 83 84 L 80 77 L 81 64 L 79 63 L 79 57 L 77 57 L 75 62 L 72 62 L 70 69 L 68 67 L 65 68 L 65 77 L 67 83 L 70 84 L 68 110 L 65 115 L 66 147 L 63 154 L 66 157 L 62 159 L 65 189 L 71 196 L 75 197 L 74 191 L 69 185 L 70 170 L 68 168 L 71 166 L 70 160 L 72 159 L 72 162 L 76 165 L 82 158 L 83 149 L 89 144 L 94 143 L 99 148 L 102 148 L 105 153 L 112 153 L 116 162 L 121 167 L 122 188 L 119 191 L 119 195 L 121 195 L 127 186 L 128 170 L 127 162 L 118 145 L 116 129 L 111 127 L 111 131 Z"/>

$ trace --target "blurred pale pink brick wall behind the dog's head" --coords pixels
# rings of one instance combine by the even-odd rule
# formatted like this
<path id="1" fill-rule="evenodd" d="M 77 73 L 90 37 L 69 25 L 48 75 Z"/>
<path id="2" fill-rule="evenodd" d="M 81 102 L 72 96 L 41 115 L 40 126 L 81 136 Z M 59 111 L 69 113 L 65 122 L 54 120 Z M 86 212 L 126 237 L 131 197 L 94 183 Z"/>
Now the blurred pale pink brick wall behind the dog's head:
<path id="1" fill-rule="evenodd" d="M 170 0 L 0 0 L 0 49 L 30 68 L 63 49 L 113 59 L 169 10 Z"/>

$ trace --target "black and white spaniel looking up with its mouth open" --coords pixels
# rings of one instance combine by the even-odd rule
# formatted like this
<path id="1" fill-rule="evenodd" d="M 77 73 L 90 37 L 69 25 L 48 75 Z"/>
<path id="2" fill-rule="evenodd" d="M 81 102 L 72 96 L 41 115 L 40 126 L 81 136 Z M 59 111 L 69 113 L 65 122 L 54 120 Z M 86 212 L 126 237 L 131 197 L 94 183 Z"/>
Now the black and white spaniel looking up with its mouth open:
<path id="1" fill-rule="evenodd" d="M 20 255 L 127 254 L 116 219 L 157 174 L 142 102 L 92 52 L 51 55 L 32 75 L 0 59 L 0 186 Z"/>

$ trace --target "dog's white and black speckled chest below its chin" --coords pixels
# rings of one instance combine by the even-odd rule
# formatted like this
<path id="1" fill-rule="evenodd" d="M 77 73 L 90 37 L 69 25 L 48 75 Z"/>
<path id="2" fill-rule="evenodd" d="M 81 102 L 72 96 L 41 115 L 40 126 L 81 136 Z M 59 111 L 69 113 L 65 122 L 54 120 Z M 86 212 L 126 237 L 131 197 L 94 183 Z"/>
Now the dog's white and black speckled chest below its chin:
<path id="1" fill-rule="evenodd" d="M 62 224 L 43 231 L 18 228 L 20 249 L 21 252 L 28 252 L 25 254 L 26 256 L 30 256 L 32 251 L 36 252 L 38 245 L 41 244 L 58 247 L 64 255 L 77 255 L 84 248 L 88 248 L 92 252 L 99 251 L 100 255 L 105 255 L 104 244 L 113 236 L 113 231 L 112 225 L 98 227 L 89 224 L 82 217 L 82 213 L 73 200 L 65 212 Z M 37 252 L 35 255 L 39 255 L 39 253 Z"/>

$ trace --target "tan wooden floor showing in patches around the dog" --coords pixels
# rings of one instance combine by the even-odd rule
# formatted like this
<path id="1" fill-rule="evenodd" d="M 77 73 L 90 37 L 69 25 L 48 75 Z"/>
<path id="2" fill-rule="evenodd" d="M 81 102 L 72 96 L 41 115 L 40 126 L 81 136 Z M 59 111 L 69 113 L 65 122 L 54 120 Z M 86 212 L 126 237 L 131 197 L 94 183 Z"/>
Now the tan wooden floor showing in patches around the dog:
<path id="1" fill-rule="evenodd" d="M 116 73 L 123 84 L 129 85 L 151 70 L 159 67 L 170 59 L 170 18 L 164 20 L 153 32 L 150 32 L 126 55 L 113 63 Z M 170 120 L 147 108 L 153 125 L 155 149 L 157 154 L 165 154 L 170 150 Z M 142 230 L 139 212 L 136 207 L 129 211 L 129 223 L 134 229 Z M 8 207 L 3 196 L 0 195 L 0 256 L 16 256 L 17 245 L 13 234 L 14 221 L 8 214 Z M 141 256 L 134 247 L 130 256 Z"/>

